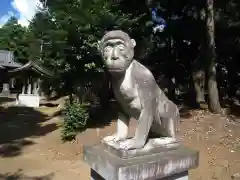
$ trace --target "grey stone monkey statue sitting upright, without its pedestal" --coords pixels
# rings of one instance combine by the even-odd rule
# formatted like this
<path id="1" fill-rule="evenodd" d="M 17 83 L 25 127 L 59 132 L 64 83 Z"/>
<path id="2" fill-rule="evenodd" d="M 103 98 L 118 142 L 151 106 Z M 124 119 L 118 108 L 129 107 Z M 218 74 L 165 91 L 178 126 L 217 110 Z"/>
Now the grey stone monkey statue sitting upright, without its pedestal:
<path id="1" fill-rule="evenodd" d="M 179 122 L 178 107 L 156 84 L 152 73 L 133 59 L 136 42 L 120 30 L 107 32 L 99 42 L 104 64 L 111 74 L 113 92 L 121 107 L 117 132 L 105 142 L 118 142 L 120 149 L 143 148 L 150 132 L 174 142 Z M 127 139 L 129 120 L 138 120 L 135 135 Z"/>

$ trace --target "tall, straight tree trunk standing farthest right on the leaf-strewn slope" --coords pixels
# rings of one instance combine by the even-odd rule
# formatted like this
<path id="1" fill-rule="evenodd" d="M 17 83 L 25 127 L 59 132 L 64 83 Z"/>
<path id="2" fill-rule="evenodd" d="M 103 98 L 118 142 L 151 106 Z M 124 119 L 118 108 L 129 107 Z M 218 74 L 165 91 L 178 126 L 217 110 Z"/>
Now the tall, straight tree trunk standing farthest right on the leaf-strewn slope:
<path id="1" fill-rule="evenodd" d="M 217 79 L 216 79 L 216 52 L 213 0 L 206 0 L 206 28 L 207 28 L 207 76 L 208 76 L 208 105 L 213 113 L 220 113 Z"/>

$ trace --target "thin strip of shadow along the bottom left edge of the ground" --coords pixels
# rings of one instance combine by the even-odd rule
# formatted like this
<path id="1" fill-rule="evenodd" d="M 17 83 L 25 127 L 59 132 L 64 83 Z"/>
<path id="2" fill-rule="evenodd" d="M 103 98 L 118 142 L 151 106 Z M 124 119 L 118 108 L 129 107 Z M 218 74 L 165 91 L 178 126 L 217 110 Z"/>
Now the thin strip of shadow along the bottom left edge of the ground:
<path id="1" fill-rule="evenodd" d="M 54 173 L 38 177 L 29 177 L 25 176 L 21 170 L 18 170 L 15 173 L 0 174 L 0 180 L 51 180 L 53 176 Z"/>

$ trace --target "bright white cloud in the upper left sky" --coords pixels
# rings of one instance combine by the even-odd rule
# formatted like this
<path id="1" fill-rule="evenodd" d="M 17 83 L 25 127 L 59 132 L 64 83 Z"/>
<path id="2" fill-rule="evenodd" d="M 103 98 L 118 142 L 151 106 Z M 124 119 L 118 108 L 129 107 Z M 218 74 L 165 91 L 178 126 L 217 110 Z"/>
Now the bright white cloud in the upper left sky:
<path id="1" fill-rule="evenodd" d="M 41 7 L 39 0 L 13 0 L 11 5 L 19 13 L 18 23 L 23 26 L 28 26 L 29 21 Z"/>

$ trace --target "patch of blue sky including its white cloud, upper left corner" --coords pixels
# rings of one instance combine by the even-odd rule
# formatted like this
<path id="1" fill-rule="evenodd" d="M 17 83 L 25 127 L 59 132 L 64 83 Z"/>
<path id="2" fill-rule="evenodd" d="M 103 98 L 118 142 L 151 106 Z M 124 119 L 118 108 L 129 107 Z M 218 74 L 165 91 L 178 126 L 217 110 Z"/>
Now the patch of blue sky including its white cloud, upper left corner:
<path id="1" fill-rule="evenodd" d="M 18 23 L 27 26 L 40 4 L 39 0 L 0 0 L 0 27 L 11 17 L 18 18 Z"/>

